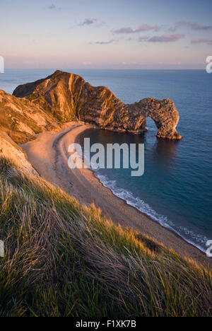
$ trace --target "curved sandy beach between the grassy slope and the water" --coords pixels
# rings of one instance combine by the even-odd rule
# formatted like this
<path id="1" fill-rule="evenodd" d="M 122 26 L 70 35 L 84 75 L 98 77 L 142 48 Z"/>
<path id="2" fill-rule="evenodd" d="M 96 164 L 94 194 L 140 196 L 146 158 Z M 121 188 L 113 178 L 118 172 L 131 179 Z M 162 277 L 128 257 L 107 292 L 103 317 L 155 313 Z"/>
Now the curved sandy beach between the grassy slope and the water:
<path id="1" fill-rule="evenodd" d="M 69 168 L 69 144 L 77 142 L 79 136 L 90 127 L 88 124 L 70 122 L 60 131 L 39 134 L 35 141 L 21 147 L 43 178 L 77 197 L 83 204 L 94 203 L 114 223 L 146 233 L 184 257 L 211 265 L 211 259 L 198 248 L 116 197 L 102 185 L 92 170 Z"/>

